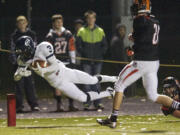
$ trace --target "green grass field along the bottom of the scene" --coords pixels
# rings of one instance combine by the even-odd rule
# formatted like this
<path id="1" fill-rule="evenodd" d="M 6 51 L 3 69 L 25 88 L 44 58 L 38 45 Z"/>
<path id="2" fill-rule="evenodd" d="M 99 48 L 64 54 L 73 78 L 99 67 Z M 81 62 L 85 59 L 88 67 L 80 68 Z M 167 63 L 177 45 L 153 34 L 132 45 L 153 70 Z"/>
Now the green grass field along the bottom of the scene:
<path id="1" fill-rule="evenodd" d="M 96 117 L 18 119 L 7 127 L 0 119 L 0 135 L 180 135 L 180 119 L 171 116 L 119 116 L 116 129 L 99 126 Z"/>

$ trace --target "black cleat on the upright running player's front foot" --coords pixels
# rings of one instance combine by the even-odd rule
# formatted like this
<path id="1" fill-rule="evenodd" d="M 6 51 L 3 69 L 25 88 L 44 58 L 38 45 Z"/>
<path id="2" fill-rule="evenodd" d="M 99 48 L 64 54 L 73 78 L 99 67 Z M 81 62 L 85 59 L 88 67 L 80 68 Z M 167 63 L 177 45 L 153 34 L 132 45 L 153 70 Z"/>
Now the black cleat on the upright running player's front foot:
<path id="1" fill-rule="evenodd" d="M 110 128 L 116 128 L 117 121 L 112 121 L 111 118 L 107 119 L 96 119 L 96 122 L 99 123 L 102 126 L 108 126 Z"/>

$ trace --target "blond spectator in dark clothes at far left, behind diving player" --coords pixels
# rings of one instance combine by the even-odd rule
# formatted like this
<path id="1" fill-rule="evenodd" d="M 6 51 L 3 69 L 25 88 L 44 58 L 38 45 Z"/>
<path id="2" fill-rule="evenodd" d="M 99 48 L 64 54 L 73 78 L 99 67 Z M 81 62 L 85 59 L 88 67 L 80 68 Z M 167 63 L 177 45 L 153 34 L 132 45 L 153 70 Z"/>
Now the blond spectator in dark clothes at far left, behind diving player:
<path id="1" fill-rule="evenodd" d="M 25 16 L 18 16 L 16 18 L 16 29 L 11 35 L 11 51 L 15 52 L 16 47 L 16 40 L 21 36 L 30 36 L 35 42 L 37 42 L 36 39 L 36 33 L 32 31 L 28 26 L 28 21 Z M 16 69 L 18 68 L 17 65 L 17 57 L 15 53 L 12 53 L 10 55 L 10 62 L 13 65 L 13 72 L 16 72 Z M 16 112 L 17 113 L 23 113 L 24 106 L 23 106 L 23 89 L 25 90 L 25 95 L 28 104 L 31 107 L 32 111 L 39 111 L 39 105 L 37 102 L 36 92 L 35 92 L 35 85 L 32 75 L 28 77 L 22 77 L 21 80 L 15 82 L 15 92 L 16 92 Z"/>

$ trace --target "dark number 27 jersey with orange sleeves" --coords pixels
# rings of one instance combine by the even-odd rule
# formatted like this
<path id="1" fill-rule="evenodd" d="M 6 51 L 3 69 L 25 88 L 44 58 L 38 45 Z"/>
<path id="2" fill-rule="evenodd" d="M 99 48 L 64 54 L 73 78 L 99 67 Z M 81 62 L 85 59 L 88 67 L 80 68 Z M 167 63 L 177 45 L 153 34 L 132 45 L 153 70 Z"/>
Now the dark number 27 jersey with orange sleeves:
<path id="1" fill-rule="evenodd" d="M 53 45 L 54 53 L 59 60 L 70 62 L 69 51 L 75 51 L 75 41 L 69 30 L 64 30 L 60 34 L 50 30 L 46 36 L 46 41 Z"/>

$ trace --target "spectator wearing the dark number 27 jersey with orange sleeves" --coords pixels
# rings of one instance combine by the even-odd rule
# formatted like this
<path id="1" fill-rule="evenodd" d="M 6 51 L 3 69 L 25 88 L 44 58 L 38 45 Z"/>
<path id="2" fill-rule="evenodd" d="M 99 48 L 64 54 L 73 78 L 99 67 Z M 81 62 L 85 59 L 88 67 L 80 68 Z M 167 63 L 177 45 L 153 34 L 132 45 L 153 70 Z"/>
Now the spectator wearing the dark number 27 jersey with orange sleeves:
<path id="1" fill-rule="evenodd" d="M 76 49 L 75 41 L 72 33 L 63 27 L 63 16 L 61 14 L 55 14 L 52 16 L 52 29 L 46 36 L 46 41 L 50 42 L 54 47 L 54 53 L 56 57 L 62 62 L 66 63 L 69 68 L 74 68 L 76 63 Z M 61 92 L 55 90 L 55 99 L 57 101 L 57 112 L 63 112 L 64 107 L 61 101 Z M 74 107 L 73 100 L 69 100 L 69 111 L 78 111 Z"/>

